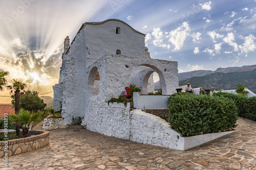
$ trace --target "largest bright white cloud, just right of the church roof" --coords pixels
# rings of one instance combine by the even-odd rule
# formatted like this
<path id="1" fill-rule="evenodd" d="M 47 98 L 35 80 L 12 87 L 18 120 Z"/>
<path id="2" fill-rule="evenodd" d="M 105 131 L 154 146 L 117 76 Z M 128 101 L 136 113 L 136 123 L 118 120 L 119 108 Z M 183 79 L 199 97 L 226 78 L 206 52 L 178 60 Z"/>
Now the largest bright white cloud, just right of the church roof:
<path id="1" fill-rule="evenodd" d="M 183 22 L 181 27 L 178 27 L 176 30 L 169 33 L 167 38 L 170 37 L 168 41 L 175 46 L 173 51 L 179 51 L 181 49 L 186 37 L 189 35 L 189 32 L 190 28 L 188 23 Z"/>

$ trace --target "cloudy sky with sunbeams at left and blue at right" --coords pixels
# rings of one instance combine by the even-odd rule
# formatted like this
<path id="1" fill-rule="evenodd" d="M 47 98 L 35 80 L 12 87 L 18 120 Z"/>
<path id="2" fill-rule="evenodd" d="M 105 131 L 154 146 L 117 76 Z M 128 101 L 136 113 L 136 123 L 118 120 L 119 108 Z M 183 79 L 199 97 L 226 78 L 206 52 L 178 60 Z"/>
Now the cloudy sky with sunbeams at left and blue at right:
<path id="1" fill-rule="evenodd" d="M 117 18 L 145 34 L 153 59 L 179 72 L 256 64 L 256 0 L 0 0 L 0 68 L 53 95 L 63 41 L 84 22 Z M 9 103 L 9 91 L 0 103 Z"/>

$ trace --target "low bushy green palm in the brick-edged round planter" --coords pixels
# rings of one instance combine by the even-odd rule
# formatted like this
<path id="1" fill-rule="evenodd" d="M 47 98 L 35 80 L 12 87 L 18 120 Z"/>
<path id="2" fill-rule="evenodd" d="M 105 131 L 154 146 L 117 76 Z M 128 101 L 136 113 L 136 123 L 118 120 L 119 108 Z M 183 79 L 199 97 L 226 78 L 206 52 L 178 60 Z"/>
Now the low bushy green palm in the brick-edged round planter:
<path id="1" fill-rule="evenodd" d="M 10 115 L 10 118 L 15 124 L 22 125 L 22 136 L 28 137 L 29 125 L 32 122 L 39 122 L 41 118 L 40 113 L 32 113 L 25 109 L 20 109 L 18 113 Z"/>

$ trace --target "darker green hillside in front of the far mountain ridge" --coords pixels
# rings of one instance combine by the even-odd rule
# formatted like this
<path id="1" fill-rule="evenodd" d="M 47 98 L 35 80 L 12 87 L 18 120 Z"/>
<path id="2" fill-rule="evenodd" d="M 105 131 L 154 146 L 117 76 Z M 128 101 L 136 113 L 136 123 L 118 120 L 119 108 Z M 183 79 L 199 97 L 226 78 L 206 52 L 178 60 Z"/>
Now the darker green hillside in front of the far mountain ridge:
<path id="1" fill-rule="evenodd" d="M 243 69 L 240 67 L 233 70 Z M 215 87 L 216 90 L 236 89 L 237 84 L 242 84 L 246 85 L 246 88 L 256 93 L 256 68 L 251 71 L 242 72 L 214 72 L 204 76 L 182 80 L 179 82 L 179 86 L 186 85 L 188 82 L 193 88 L 203 87 L 204 89 L 210 89 L 211 87 Z"/>

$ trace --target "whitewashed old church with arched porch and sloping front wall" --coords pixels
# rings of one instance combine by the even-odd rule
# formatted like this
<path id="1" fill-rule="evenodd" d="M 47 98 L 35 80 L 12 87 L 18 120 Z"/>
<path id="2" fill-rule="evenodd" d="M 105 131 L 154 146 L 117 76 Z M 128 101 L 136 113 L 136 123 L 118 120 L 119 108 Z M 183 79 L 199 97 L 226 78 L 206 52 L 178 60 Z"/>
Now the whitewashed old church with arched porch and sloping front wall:
<path id="1" fill-rule="evenodd" d="M 69 37 L 65 39 L 59 82 L 53 86 L 54 110 L 62 109 L 65 125 L 71 124 L 72 116 L 80 116 L 82 125 L 94 132 L 187 149 L 184 137 L 160 117 L 129 105 L 108 105 L 130 84 L 142 87 L 141 94 L 153 91 L 154 71 L 162 94 L 178 88 L 178 63 L 151 59 L 144 38 L 118 19 L 83 23 L 71 44 Z"/>

